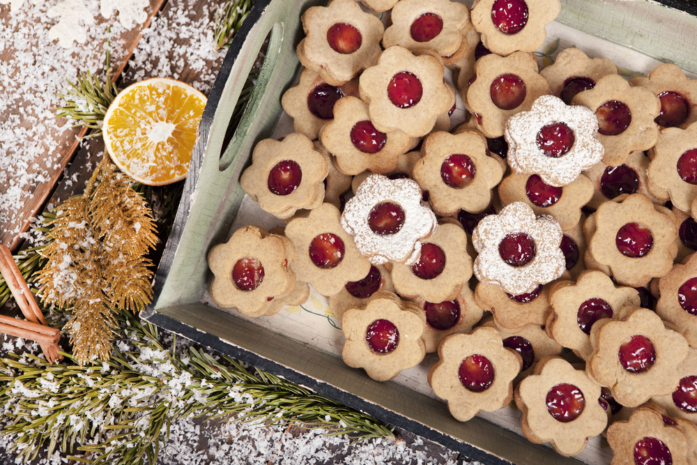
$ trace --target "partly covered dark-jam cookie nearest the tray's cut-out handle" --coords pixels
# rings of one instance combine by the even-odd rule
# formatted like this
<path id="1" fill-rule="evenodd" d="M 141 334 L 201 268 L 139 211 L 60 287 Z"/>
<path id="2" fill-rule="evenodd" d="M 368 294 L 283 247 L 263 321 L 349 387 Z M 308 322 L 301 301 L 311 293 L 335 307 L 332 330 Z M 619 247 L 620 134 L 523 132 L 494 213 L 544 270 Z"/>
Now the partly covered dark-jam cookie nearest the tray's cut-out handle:
<path id="1" fill-rule="evenodd" d="M 293 130 L 316 139 L 319 130 L 334 118 L 334 105 L 344 96 L 358 96 L 358 79 L 332 86 L 313 70 L 302 70 L 300 82 L 288 89 L 281 106 L 293 119 Z"/>

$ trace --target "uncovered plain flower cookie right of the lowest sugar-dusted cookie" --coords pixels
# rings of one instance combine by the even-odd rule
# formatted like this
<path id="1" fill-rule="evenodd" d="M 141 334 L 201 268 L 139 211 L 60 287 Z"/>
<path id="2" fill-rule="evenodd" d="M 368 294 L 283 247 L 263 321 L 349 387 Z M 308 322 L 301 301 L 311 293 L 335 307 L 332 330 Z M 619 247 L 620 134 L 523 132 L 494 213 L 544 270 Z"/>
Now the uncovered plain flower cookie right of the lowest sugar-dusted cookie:
<path id="1" fill-rule="evenodd" d="M 639 287 L 671 270 L 677 254 L 675 223 L 648 197 L 633 194 L 621 204 L 606 202 L 591 216 L 595 231 L 589 231 L 586 256 L 606 266 L 615 281 Z M 588 259 L 586 266 L 591 266 Z"/>

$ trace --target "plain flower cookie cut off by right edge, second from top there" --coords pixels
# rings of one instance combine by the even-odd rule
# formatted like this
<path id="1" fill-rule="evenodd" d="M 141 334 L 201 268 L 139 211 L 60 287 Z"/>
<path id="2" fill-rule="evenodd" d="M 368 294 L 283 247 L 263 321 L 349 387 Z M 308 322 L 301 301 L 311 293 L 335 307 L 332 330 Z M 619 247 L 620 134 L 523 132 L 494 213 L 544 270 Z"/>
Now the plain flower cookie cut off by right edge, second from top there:
<path id="1" fill-rule="evenodd" d="M 661 131 L 652 151 L 648 177 L 653 185 L 668 192 L 673 205 L 686 212 L 690 211 L 692 201 L 697 197 L 697 176 L 694 176 L 692 168 L 695 163 L 697 123 L 692 123 L 686 129 L 667 128 Z"/>

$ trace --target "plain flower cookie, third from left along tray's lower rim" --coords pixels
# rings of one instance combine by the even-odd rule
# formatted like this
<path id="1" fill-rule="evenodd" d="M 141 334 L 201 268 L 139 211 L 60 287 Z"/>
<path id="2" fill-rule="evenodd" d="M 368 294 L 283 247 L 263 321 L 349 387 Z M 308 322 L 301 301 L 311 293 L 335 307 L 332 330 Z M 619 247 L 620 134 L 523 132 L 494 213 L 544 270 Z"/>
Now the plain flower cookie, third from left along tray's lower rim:
<path id="1" fill-rule="evenodd" d="M 429 385 L 445 399 L 456 420 L 470 420 L 480 411 L 495 411 L 511 401 L 521 357 L 503 346 L 496 328 L 449 335 L 438 346 L 438 357 L 429 370 Z"/>

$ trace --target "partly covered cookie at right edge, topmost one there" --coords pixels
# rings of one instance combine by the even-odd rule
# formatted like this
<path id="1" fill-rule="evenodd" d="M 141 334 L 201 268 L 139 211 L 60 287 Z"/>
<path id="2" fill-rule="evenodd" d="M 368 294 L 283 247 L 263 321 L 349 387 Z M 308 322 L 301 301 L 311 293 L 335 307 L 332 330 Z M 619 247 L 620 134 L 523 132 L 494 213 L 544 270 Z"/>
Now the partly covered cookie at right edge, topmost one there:
<path id="1" fill-rule="evenodd" d="M 687 128 L 697 121 L 697 80 L 687 79 L 673 63 L 663 63 L 649 77 L 635 77 L 629 84 L 645 87 L 661 100 L 655 120 L 661 128 Z"/>

